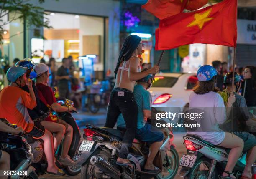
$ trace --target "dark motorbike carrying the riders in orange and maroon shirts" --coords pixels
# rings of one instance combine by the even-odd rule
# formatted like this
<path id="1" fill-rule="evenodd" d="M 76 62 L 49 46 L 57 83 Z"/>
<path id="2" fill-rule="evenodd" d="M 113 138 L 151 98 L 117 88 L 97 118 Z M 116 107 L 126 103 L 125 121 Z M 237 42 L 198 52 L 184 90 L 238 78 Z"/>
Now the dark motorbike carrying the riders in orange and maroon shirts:
<path id="1" fill-rule="evenodd" d="M 57 103 L 59 103 L 61 106 L 74 106 L 74 102 L 70 101 L 66 98 L 57 98 Z M 76 111 L 72 111 L 72 113 L 74 113 Z M 80 134 L 80 130 L 79 127 L 77 126 L 77 123 L 74 119 L 74 117 L 71 115 L 71 113 L 69 112 L 61 112 L 61 113 L 56 113 L 53 112 L 54 115 L 57 115 L 59 118 L 61 118 L 62 120 L 66 121 L 68 124 L 70 124 L 73 127 L 73 139 L 72 139 L 72 143 L 68 152 L 68 155 L 76 162 L 76 164 L 74 166 L 64 166 L 59 162 L 56 162 L 57 166 L 61 169 L 64 170 L 64 172 L 68 175 L 77 175 L 80 173 L 81 171 L 81 164 L 78 164 L 77 161 L 79 161 L 80 156 L 82 154 L 82 151 L 78 151 L 78 147 L 80 146 L 80 139 L 81 139 L 81 134 Z M 28 143 L 31 145 L 32 147 L 32 153 L 34 156 L 33 159 L 33 164 L 32 166 L 34 166 L 37 170 L 38 174 L 44 174 L 46 171 L 46 161 L 44 160 L 44 148 L 43 148 L 43 141 L 41 139 L 33 139 L 31 136 L 27 137 Z M 58 149 L 56 150 L 55 153 L 55 157 L 56 159 L 59 158 L 59 156 L 61 155 L 61 148 L 62 148 L 62 143 L 60 144 L 60 146 L 58 147 Z M 83 159 L 81 159 L 82 162 Z"/>

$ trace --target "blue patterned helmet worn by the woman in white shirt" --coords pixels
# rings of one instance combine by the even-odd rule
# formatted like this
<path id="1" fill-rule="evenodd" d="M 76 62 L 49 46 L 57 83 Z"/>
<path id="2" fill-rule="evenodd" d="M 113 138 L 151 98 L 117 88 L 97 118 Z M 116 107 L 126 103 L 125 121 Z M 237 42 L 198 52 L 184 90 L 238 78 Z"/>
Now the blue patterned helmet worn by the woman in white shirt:
<path id="1" fill-rule="evenodd" d="M 210 81 L 216 75 L 217 75 L 216 69 L 210 65 L 201 66 L 197 71 L 198 81 Z"/>

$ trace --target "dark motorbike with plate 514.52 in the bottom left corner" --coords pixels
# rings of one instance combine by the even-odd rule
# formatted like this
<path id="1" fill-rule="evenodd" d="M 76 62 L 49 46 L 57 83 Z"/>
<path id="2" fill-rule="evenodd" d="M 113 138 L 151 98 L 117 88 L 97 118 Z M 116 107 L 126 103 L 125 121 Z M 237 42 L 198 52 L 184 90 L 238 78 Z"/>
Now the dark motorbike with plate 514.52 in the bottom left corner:
<path id="1" fill-rule="evenodd" d="M 0 119 L 8 126 L 16 128 L 15 125 L 10 124 L 5 119 Z M 31 152 L 31 146 L 26 139 L 18 134 L 12 135 L 1 132 L 0 135 L 1 150 L 10 154 L 10 170 L 20 172 L 20 176 L 12 175 L 10 179 L 38 179 L 35 168 L 31 166 L 33 161 L 33 154 Z"/>

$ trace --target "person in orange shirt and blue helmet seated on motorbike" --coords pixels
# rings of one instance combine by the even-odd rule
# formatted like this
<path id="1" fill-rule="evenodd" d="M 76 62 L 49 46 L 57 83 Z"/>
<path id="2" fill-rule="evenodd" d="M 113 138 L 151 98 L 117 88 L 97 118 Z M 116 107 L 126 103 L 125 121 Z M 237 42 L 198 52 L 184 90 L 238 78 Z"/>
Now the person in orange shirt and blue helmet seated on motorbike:
<path id="1" fill-rule="evenodd" d="M 6 73 L 10 86 L 0 91 L 0 118 L 6 118 L 10 123 L 33 136 L 35 139 L 44 141 L 44 151 L 48 163 L 47 173 L 64 175 L 54 164 L 53 136 L 41 124 L 33 122 L 28 115 L 27 108 L 36 107 L 36 96 L 33 91 L 32 81 L 27 79 L 27 68 L 22 66 L 13 66 Z M 22 90 L 22 86 L 28 86 L 29 93 Z"/>

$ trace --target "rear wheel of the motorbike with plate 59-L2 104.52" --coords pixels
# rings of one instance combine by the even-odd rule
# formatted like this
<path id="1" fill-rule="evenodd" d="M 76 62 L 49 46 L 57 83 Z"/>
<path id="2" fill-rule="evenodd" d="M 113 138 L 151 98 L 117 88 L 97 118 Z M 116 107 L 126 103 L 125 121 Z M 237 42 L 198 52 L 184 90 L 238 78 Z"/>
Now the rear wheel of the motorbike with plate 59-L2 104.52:
<path id="1" fill-rule="evenodd" d="M 206 157 L 200 158 L 192 167 L 185 179 L 207 179 L 210 172 L 211 160 Z M 214 169 L 212 179 L 218 179 L 217 169 Z"/>

